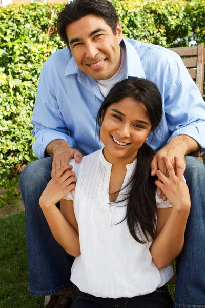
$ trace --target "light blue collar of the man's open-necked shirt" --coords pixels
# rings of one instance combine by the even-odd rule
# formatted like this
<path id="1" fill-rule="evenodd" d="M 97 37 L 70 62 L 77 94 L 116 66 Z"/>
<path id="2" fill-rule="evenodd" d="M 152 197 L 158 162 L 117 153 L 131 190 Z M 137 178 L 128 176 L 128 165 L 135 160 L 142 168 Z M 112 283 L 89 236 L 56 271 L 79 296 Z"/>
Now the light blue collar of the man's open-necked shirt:
<path id="1" fill-rule="evenodd" d="M 134 48 L 134 46 L 129 43 L 125 38 L 122 38 L 122 42 L 120 44 L 124 44 L 126 46 L 126 60 L 127 60 L 127 77 L 139 77 L 139 78 L 146 78 L 145 71 L 142 67 L 140 57 Z M 68 62 L 68 65 L 65 70 L 65 76 L 78 74 L 81 72 L 73 58 Z"/>

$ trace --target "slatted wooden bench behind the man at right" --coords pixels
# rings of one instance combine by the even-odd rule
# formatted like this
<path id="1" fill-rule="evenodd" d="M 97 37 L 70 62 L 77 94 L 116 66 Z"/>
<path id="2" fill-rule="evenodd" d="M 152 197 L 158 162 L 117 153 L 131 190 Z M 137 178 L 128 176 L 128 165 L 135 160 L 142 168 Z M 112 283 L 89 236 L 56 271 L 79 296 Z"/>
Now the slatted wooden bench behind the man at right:
<path id="1" fill-rule="evenodd" d="M 196 83 L 201 95 L 203 96 L 203 86 L 204 86 L 204 63 L 205 63 L 205 47 L 204 45 L 198 45 L 194 47 L 176 47 L 169 48 L 170 50 L 176 52 L 183 60 L 183 63 L 188 69 L 188 72 L 194 82 Z M 203 161 L 202 153 L 200 150 L 193 152 L 192 156 L 198 157 Z M 170 279 L 169 283 L 176 283 L 176 271 L 174 271 L 173 277 Z"/>

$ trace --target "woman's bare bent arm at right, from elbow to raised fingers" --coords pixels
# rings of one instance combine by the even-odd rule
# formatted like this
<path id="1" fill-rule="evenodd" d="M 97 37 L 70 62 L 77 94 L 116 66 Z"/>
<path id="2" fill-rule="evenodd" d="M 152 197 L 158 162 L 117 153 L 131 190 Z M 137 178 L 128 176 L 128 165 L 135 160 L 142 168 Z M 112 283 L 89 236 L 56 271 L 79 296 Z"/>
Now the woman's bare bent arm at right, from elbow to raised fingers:
<path id="1" fill-rule="evenodd" d="M 167 156 L 163 157 L 169 177 L 157 170 L 156 175 L 161 180 L 155 184 L 163 191 L 172 208 L 157 209 L 156 236 L 150 247 L 153 262 L 158 269 L 169 266 L 183 248 L 185 228 L 190 212 L 189 189 L 183 179 L 185 169 L 180 159 L 175 157 L 176 174 Z"/>

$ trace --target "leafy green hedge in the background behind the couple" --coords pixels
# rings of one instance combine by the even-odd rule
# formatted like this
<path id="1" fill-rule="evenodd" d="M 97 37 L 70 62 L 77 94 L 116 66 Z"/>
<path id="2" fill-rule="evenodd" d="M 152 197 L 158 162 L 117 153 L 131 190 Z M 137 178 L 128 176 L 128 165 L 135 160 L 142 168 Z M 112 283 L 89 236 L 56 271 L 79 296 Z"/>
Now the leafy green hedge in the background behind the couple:
<path id="1" fill-rule="evenodd" d="M 113 0 L 124 35 L 164 47 L 205 43 L 205 0 Z M 44 61 L 64 47 L 56 31 L 65 4 L 0 7 L 0 188 L 15 195 L 16 177 L 36 159 L 31 150 L 31 115 Z M 5 199 L 0 206 L 5 206 Z"/>

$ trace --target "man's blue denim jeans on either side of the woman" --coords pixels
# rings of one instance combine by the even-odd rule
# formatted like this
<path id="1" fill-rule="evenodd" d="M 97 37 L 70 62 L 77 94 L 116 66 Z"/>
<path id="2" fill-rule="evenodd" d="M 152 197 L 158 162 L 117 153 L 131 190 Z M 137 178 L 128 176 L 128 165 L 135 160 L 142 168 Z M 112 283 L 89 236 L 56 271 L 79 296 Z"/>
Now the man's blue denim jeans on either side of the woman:
<path id="1" fill-rule="evenodd" d="M 38 200 L 51 179 L 52 158 L 26 166 L 20 178 L 25 205 L 29 263 L 29 293 L 52 295 L 72 286 L 70 269 L 74 258 L 55 241 Z M 205 307 L 205 166 L 186 157 L 185 178 L 191 194 L 185 246 L 178 257 L 174 308 Z"/>

